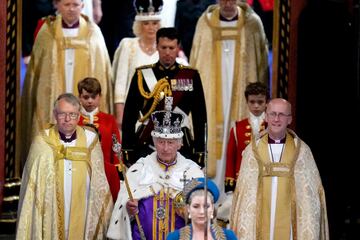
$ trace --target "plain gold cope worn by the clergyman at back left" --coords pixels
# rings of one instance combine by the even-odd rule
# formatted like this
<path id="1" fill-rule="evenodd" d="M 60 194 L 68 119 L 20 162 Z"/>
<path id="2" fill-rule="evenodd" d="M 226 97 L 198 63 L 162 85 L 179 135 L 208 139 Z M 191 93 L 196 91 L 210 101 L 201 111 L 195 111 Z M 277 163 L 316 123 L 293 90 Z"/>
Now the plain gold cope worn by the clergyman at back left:
<path id="1" fill-rule="evenodd" d="M 107 48 L 96 24 L 86 16 L 80 17 L 77 37 L 64 37 L 61 16 L 48 18 L 41 27 L 27 67 L 21 98 L 21 161 L 27 157 L 32 138 L 47 123 L 54 122 L 53 104 L 65 92 L 65 49 L 74 49 L 73 93 L 85 77 L 100 81 L 102 98 L 100 110 L 112 112 L 113 86 L 111 63 Z"/>

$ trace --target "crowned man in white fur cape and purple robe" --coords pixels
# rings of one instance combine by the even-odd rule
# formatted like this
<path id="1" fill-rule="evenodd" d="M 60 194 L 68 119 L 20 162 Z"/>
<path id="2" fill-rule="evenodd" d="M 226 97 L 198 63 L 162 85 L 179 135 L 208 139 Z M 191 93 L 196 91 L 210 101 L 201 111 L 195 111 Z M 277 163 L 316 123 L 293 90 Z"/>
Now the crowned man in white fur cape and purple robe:
<path id="1" fill-rule="evenodd" d="M 166 102 L 166 109 L 171 108 L 171 98 Z M 120 188 L 108 238 L 166 239 L 169 232 L 185 226 L 176 197 L 185 183 L 203 177 L 203 172 L 178 152 L 184 136 L 183 120 L 182 113 L 169 110 L 151 114 L 156 151 L 140 158 L 126 172 L 128 184 Z"/>

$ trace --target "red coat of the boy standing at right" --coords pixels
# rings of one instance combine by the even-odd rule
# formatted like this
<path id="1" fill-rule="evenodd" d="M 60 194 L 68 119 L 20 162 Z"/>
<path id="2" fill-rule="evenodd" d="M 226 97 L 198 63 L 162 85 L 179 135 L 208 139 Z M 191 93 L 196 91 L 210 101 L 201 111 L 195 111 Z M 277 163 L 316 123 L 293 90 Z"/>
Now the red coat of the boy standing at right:
<path id="1" fill-rule="evenodd" d="M 260 131 L 265 129 L 265 122 Z M 231 128 L 226 152 L 225 192 L 234 191 L 239 174 L 242 152 L 250 143 L 252 129 L 248 118 L 235 122 Z"/>

